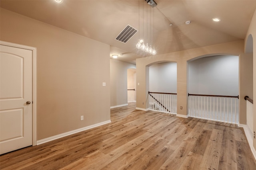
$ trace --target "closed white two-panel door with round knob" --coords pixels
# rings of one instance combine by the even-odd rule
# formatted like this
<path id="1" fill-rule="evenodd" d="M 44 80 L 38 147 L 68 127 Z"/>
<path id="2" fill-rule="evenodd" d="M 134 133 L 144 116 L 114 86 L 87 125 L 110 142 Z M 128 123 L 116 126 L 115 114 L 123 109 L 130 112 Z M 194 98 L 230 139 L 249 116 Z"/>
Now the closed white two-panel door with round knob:
<path id="1" fill-rule="evenodd" d="M 32 145 L 32 51 L 0 45 L 0 154 Z"/>

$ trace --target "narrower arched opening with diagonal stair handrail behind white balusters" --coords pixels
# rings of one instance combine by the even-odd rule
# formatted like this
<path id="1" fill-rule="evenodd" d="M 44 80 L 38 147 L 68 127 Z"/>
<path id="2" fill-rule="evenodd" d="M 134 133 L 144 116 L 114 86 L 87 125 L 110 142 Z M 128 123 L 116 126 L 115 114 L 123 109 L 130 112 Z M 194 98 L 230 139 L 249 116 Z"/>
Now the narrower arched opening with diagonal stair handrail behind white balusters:
<path id="1" fill-rule="evenodd" d="M 161 62 L 148 66 L 148 109 L 177 113 L 177 63 Z"/>

